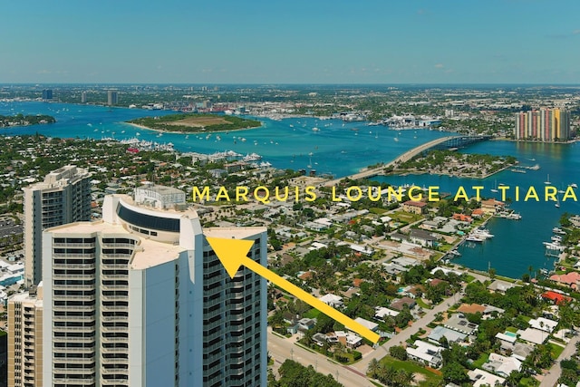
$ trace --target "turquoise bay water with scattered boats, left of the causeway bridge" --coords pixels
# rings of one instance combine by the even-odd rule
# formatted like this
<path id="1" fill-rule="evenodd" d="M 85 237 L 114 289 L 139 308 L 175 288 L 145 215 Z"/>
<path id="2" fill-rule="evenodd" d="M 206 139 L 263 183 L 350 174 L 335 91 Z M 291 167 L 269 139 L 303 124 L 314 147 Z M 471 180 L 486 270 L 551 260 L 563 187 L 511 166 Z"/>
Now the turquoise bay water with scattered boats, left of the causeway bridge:
<path id="1" fill-rule="evenodd" d="M 390 161 L 421 143 L 449 136 L 440 131 L 389 131 L 382 126 L 366 126 L 364 122 L 319 121 L 314 118 L 264 122 L 263 127 L 246 131 L 207 134 L 160 133 L 122 123 L 137 117 L 170 114 L 173 111 L 143 111 L 102 106 L 70 105 L 44 102 L 0 102 L 0 114 L 50 114 L 57 122 L 50 126 L 34 126 L 6 131 L 8 134 L 34 133 L 49 136 L 117 140 L 138 137 L 160 143 L 173 143 L 176 150 L 214 153 L 234 150 L 246 155 L 256 152 L 281 169 L 316 169 L 317 173 L 346 176 L 380 161 Z M 313 131 L 318 128 L 319 131 Z M 139 133 L 139 136 L 137 136 Z M 217 135 L 221 140 L 217 140 Z M 399 140 L 394 140 L 398 137 Z M 240 140 L 246 139 L 245 141 Z M 310 155 L 312 153 L 312 156 Z M 311 166 L 309 168 L 308 166 Z"/>

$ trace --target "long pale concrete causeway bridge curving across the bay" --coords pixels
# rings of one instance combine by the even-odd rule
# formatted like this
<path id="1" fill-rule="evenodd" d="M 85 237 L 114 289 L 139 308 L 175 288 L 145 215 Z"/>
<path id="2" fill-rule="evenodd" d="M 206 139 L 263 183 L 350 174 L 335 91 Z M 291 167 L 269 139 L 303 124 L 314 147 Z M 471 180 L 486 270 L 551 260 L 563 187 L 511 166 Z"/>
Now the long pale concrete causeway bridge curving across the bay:
<path id="1" fill-rule="evenodd" d="M 372 178 L 373 176 L 381 175 L 384 169 L 389 167 L 394 167 L 395 165 L 409 161 L 412 158 L 419 156 L 422 153 L 427 153 L 430 150 L 458 150 L 459 148 L 467 147 L 468 145 L 474 144 L 480 141 L 486 141 L 491 139 L 491 136 L 448 136 L 441 137 L 437 140 L 429 141 L 425 144 L 413 148 L 412 150 L 407 150 L 401 156 L 392 160 L 388 164 L 384 164 L 381 167 L 362 170 L 361 172 L 354 173 L 353 175 L 345 176 L 341 179 L 333 179 L 325 181 L 323 183 L 326 187 L 332 187 L 340 182 L 342 179 L 366 179 Z"/>

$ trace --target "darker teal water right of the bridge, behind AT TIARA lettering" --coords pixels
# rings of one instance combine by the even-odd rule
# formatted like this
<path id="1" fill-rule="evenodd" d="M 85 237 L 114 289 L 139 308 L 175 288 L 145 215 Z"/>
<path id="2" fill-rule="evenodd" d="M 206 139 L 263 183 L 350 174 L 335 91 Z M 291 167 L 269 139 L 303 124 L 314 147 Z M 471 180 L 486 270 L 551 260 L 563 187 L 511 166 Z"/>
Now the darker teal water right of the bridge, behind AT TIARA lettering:
<path id="1" fill-rule="evenodd" d="M 521 165 L 540 165 L 539 170 L 527 170 L 527 173 L 515 173 L 504 170 L 488 179 L 457 179 L 447 176 L 420 175 L 406 177 L 380 178 L 392 184 L 416 184 L 440 186 L 440 192 L 455 193 L 459 186 L 475 194 L 472 186 L 484 186 L 482 196 L 501 200 L 501 191 L 492 193 L 500 183 L 510 186 L 507 197 L 512 199 L 510 208 L 520 213 L 521 220 L 492 218 L 487 228 L 495 237 L 481 244 L 466 243 L 459 247 L 461 256 L 455 259 L 461 265 L 478 270 L 488 270 L 493 267 L 502 276 L 519 278 L 528 273 L 528 267 L 552 269 L 554 258 L 545 256 L 543 241 L 550 241 L 552 228 L 559 227 L 559 219 L 565 212 L 580 213 L 578 202 L 568 199 L 560 202 L 560 208 L 555 202 L 544 201 L 544 189 L 547 175 L 557 189 L 566 189 L 568 184 L 580 184 L 580 146 L 574 144 L 535 144 L 511 141 L 487 141 L 469 147 L 469 153 L 490 153 L 497 155 L 514 155 Z M 520 198 L 516 201 L 515 187 L 520 188 Z M 523 201 L 527 189 L 533 186 L 541 201 Z M 511 193 L 510 193 L 511 192 Z M 580 196 L 575 189 L 576 197 Z M 562 195 L 560 195 L 562 198 Z"/>

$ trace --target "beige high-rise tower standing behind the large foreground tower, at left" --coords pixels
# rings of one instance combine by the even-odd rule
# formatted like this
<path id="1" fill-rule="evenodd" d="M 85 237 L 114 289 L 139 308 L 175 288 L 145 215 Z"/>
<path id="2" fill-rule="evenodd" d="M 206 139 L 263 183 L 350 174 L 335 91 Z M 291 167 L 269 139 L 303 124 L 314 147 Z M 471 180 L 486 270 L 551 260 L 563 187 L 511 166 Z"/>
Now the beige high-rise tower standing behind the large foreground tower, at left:
<path id="1" fill-rule="evenodd" d="M 91 220 L 91 174 L 67 165 L 53 170 L 43 182 L 24 191 L 24 285 L 38 285 L 42 277 L 43 229 Z"/>

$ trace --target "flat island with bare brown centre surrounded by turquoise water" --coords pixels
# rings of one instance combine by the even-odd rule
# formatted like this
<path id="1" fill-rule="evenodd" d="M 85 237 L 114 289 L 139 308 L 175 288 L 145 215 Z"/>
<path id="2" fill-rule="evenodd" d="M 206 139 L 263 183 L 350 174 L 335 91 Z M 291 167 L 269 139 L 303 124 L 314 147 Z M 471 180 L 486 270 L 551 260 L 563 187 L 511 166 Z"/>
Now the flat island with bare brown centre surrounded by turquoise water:
<path id="1" fill-rule="evenodd" d="M 161 117 L 143 117 L 127 121 L 153 131 L 197 133 L 201 131 L 237 131 L 258 128 L 260 121 L 216 114 L 169 114 Z"/>

